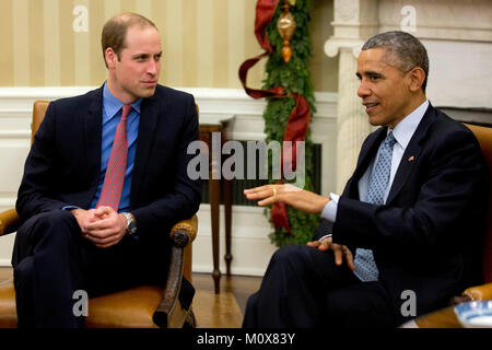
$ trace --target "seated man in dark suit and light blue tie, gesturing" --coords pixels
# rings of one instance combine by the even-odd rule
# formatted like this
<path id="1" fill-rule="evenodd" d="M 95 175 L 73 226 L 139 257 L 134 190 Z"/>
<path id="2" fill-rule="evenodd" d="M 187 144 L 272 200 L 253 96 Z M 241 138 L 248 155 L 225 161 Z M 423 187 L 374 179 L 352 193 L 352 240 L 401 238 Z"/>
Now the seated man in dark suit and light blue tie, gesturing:
<path id="1" fill-rule="evenodd" d="M 260 206 L 283 201 L 324 219 L 313 242 L 276 252 L 245 327 L 395 327 L 479 281 L 487 165 L 472 132 L 427 101 L 427 74 L 415 37 L 372 37 L 358 60 L 358 95 L 380 128 L 343 194 L 245 191 Z"/>

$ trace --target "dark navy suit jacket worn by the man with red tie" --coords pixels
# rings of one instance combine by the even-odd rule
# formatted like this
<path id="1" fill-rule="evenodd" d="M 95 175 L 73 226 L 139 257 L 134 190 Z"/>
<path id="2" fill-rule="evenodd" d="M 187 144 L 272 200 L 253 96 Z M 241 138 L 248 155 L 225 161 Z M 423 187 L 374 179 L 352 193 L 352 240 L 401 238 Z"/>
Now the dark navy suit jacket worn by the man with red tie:
<path id="1" fill-rule="evenodd" d="M 22 221 L 65 206 L 87 209 L 101 167 L 103 89 L 49 104 L 25 162 L 16 210 Z M 187 175 L 188 144 L 198 140 L 192 95 L 157 85 L 143 98 L 130 195 L 143 243 L 166 241 L 169 229 L 192 217 L 200 182 Z"/>

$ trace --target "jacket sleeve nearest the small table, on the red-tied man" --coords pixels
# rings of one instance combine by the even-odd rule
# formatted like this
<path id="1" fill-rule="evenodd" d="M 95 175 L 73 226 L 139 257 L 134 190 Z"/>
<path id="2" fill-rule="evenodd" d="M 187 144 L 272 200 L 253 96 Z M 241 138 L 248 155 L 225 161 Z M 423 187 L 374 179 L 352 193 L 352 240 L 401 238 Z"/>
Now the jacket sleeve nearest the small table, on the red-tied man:
<path id="1" fill-rule="evenodd" d="M 188 145 L 199 139 L 198 115 L 192 96 L 186 103 L 186 112 L 179 144 L 176 148 L 175 164 L 168 166 L 174 171 L 172 190 L 160 199 L 134 210 L 138 233 L 162 231 L 163 224 L 174 224 L 191 218 L 200 206 L 201 180 L 191 179 L 187 174 L 189 161 L 195 156 L 188 154 Z"/>

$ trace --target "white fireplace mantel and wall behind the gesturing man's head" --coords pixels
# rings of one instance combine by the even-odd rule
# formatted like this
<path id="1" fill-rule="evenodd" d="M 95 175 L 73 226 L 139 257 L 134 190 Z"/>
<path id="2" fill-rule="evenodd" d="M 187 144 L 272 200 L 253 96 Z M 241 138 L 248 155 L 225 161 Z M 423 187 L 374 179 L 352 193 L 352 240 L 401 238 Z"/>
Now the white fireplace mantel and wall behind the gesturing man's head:
<path id="1" fill-rule="evenodd" d="M 410 33 L 427 49 L 434 106 L 491 108 L 492 1 L 379 0 L 379 32 L 400 30 L 403 8 L 413 9 Z"/>

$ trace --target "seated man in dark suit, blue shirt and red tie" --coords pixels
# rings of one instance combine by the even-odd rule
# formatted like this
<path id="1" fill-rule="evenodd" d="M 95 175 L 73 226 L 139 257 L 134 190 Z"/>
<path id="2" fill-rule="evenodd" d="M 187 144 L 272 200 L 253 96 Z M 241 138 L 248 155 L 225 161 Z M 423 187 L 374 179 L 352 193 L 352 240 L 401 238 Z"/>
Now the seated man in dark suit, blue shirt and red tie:
<path id="1" fill-rule="evenodd" d="M 50 103 L 25 163 L 12 255 L 20 327 L 83 326 L 72 311 L 79 290 L 163 285 L 168 232 L 200 203 L 200 183 L 187 176 L 195 101 L 157 84 L 155 25 L 118 15 L 102 44 L 107 81 Z M 185 307 L 192 294 L 184 280 Z"/>

